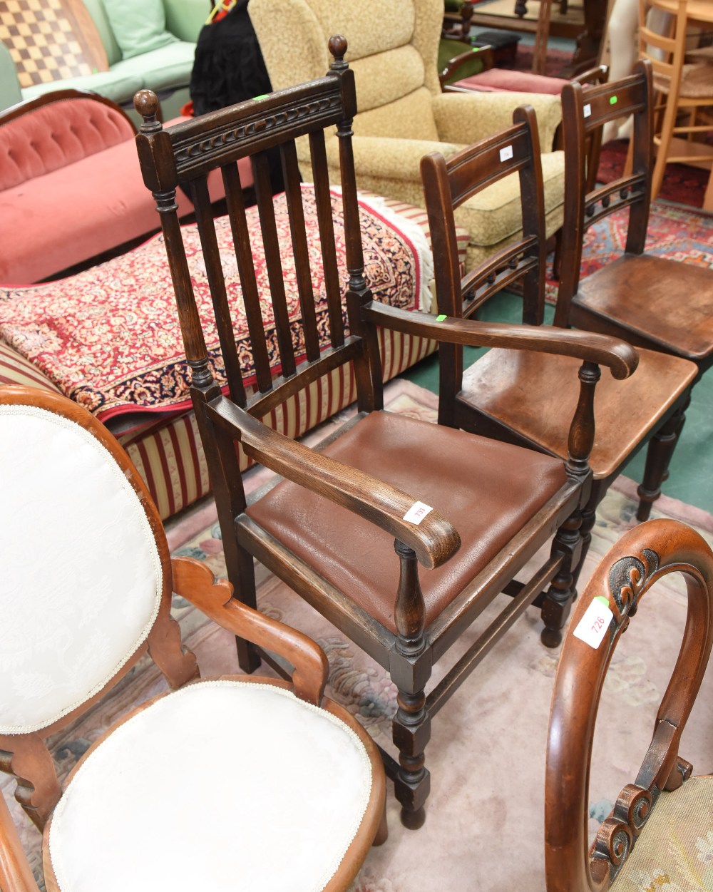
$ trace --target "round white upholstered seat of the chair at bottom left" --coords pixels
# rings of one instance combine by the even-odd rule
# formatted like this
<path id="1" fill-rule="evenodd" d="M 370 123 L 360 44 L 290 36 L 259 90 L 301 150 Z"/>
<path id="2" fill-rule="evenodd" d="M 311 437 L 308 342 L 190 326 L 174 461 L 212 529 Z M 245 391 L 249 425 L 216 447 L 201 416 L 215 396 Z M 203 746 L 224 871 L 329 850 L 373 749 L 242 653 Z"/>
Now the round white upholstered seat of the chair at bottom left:
<path id="1" fill-rule="evenodd" d="M 366 749 L 336 715 L 270 684 L 199 681 L 90 753 L 46 846 L 62 892 L 318 892 L 370 789 Z"/>

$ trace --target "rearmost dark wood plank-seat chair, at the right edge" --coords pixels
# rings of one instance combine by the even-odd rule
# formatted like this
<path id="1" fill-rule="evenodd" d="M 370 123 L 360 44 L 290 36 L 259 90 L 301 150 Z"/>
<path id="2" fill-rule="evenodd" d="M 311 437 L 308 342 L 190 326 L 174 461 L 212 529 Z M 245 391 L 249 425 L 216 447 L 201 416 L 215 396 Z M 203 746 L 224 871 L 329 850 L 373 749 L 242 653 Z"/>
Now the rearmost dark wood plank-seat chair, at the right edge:
<path id="1" fill-rule="evenodd" d="M 624 338 L 650 350 L 684 357 L 698 368 L 696 380 L 713 362 L 713 269 L 645 252 L 653 169 L 653 99 L 651 63 L 637 62 L 634 74 L 583 93 L 576 85 L 562 90 L 565 140 L 565 219 L 562 268 L 555 323 Z M 585 188 L 583 147 L 589 135 L 622 115 L 634 116 L 633 169 L 599 188 Z M 615 211 L 629 208 L 626 247 L 580 279 L 582 245 L 588 227 Z M 695 382 L 694 382 L 695 383 Z M 645 520 L 659 483 L 667 476 L 675 438 L 684 425 L 682 405 L 651 442 L 639 487 L 637 517 Z"/>

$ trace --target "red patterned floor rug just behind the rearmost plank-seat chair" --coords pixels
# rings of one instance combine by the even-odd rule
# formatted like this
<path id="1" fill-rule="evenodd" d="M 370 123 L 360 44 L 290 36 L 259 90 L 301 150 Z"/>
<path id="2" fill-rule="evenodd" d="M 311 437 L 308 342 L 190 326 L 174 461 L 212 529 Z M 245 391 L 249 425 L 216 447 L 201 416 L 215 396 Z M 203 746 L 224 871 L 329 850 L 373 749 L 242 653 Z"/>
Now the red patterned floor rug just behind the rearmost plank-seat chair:
<path id="1" fill-rule="evenodd" d="M 589 227 L 582 249 L 582 278 L 624 251 L 628 214 L 628 210 L 617 211 Z M 670 260 L 713 267 L 713 214 L 651 202 L 645 250 Z M 551 278 L 546 298 L 549 303 L 557 301 L 557 282 Z"/>

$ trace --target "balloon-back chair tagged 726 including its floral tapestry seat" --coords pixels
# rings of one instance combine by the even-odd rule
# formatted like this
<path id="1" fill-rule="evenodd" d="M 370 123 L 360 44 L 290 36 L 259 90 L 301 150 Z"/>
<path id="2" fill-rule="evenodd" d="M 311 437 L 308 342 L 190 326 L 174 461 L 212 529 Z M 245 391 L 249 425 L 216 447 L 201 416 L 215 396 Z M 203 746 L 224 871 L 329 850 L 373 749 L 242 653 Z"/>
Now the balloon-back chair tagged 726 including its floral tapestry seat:
<path id="1" fill-rule="evenodd" d="M 671 573 L 684 575 L 688 591 L 681 651 L 641 769 L 619 793 L 590 847 L 594 723 L 609 662 L 643 596 Z M 544 805 L 547 892 L 710 888 L 704 853 L 710 845 L 713 777 L 691 777 L 692 765 L 678 747 L 708 665 L 711 617 L 713 552 L 685 524 L 651 520 L 634 528 L 594 571 L 572 617 L 552 694 Z M 651 646 L 653 654 L 656 642 Z"/>

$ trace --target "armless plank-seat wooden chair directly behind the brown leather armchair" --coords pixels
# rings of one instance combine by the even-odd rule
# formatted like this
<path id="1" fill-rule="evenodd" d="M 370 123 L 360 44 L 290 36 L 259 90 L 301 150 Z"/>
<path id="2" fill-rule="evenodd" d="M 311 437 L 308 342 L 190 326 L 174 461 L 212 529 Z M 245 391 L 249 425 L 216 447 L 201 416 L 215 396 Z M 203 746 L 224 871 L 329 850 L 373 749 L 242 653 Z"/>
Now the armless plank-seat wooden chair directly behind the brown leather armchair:
<path id="1" fill-rule="evenodd" d="M 626 93 L 620 95 L 624 99 Z M 438 310 L 449 319 L 473 317 L 493 294 L 521 282 L 523 322 L 556 336 L 556 328 L 542 326 L 545 238 L 535 112 L 518 109 L 514 118 L 513 128 L 470 146 L 448 161 L 440 153 L 429 154 L 421 161 L 434 255 L 441 260 L 435 263 Z M 453 211 L 469 195 L 508 177 L 514 198 L 519 178 L 523 238 L 461 279 L 454 254 Z M 565 231 L 567 228 L 566 221 Z M 568 257 L 571 259 L 571 254 Z M 579 448 L 569 428 L 578 399 L 575 359 L 499 347 L 477 359 L 464 373 L 460 344 L 442 343 L 440 374 L 441 424 L 560 458 Z M 685 359 L 642 350 L 634 376 L 626 381 L 606 376 L 598 385 L 596 431 L 592 427 L 586 432 L 588 442 L 593 442 L 589 457 L 593 483 L 580 518 L 584 547 L 575 579 L 589 546 L 596 507 L 609 484 L 651 437 L 659 437 L 661 446 L 673 450 L 674 442 L 667 438 L 665 425 L 676 423 L 676 413 L 688 399 L 695 374 L 695 366 Z M 593 386 L 599 376 L 598 369 L 585 364 L 580 372 L 582 387 Z M 567 614 L 568 602 L 560 592 L 551 590 L 543 604 L 543 616 L 547 617 L 542 633 L 545 644 L 554 647 L 560 643 L 560 629 Z"/>

